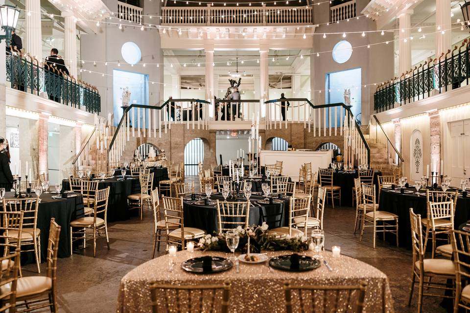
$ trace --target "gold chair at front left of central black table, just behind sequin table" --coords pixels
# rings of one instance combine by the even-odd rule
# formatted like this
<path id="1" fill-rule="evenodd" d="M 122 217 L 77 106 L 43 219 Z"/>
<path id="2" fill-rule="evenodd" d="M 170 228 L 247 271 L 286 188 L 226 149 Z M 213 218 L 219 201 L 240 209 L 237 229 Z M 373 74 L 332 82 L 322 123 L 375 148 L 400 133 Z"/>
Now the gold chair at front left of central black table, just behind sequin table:
<path id="1" fill-rule="evenodd" d="M 195 227 L 184 226 L 183 198 L 162 196 L 166 233 L 166 250 L 168 244 L 185 248 L 185 241 L 203 237 L 206 232 Z"/>

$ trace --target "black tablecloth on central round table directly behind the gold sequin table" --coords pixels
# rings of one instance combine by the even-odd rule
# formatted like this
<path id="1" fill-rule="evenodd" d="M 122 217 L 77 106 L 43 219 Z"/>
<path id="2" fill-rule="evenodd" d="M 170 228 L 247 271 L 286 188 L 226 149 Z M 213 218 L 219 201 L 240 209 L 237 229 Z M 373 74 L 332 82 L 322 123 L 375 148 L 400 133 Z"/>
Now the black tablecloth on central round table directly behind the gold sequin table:
<path id="1" fill-rule="evenodd" d="M 223 197 L 219 194 L 211 196 L 211 200 L 223 201 Z M 258 200 L 263 199 L 261 196 L 252 195 L 250 201 L 250 217 L 249 224 L 261 225 L 262 222 L 268 224 L 269 229 L 288 225 L 289 200 L 284 199 L 282 203 L 262 204 L 258 205 Z M 237 199 L 243 202 L 245 199 Z M 185 227 L 196 227 L 203 229 L 207 234 L 217 232 L 217 212 L 215 203 L 213 205 L 196 205 L 192 201 L 183 202 L 184 223 Z M 264 217 L 264 218 L 263 218 Z M 264 220 L 264 221 L 263 221 Z M 275 223 L 278 220 L 280 223 Z"/>

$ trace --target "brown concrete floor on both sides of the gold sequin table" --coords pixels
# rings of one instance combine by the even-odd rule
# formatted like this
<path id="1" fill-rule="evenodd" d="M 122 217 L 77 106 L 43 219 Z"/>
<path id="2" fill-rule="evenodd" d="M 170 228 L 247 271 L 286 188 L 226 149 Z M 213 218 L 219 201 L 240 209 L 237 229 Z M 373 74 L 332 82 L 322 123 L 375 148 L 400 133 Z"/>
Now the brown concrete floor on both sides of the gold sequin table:
<path id="1" fill-rule="evenodd" d="M 58 261 L 58 291 L 60 312 L 63 313 L 107 313 L 116 312 L 119 281 L 131 269 L 148 261 L 152 253 L 153 218 L 146 211 L 143 221 L 129 221 L 109 225 L 111 250 L 106 241 L 98 239 L 96 258 L 93 247 L 77 251 L 70 258 Z M 341 246 L 341 253 L 357 258 L 382 270 L 389 278 L 395 311 L 416 312 L 418 301 L 415 288 L 411 307 L 407 306 L 411 251 L 389 246 L 377 240 L 372 248 L 372 234 L 366 232 L 359 243 L 359 235 L 352 234 L 354 211 L 350 207 L 334 210 L 327 207 L 324 216 L 325 247 Z M 162 254 L 162 252 L 160 252 Z M 37 275 L 35 265 L 23 268 L 24 276 Z M 41 264 L 46 272 L 46 264 Z M 439 306 L 441 298 L 425 297 L 423 312 L 446 312 Z M 48 312 L 45 310 L 44 312 Z"/>

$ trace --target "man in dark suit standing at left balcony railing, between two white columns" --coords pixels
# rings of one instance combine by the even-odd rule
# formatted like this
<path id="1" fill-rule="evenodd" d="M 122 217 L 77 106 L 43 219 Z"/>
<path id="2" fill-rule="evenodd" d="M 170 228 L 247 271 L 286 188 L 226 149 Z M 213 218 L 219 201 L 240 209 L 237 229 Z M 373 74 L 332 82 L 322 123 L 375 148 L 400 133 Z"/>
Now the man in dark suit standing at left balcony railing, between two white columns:
<path id="1" fill-rule="evenodd" d="M 48 68 L 45 68 L 45 76 L 49 99 L 60 103 L 63 83 L 62 73 L 69 75 L 69 70 L 65 66 L 64 60 L 57 55 L 58 53 L 59 50 L 52 48 L 50 50 L 50 56 L 46 57 L 46 64 Z"/>

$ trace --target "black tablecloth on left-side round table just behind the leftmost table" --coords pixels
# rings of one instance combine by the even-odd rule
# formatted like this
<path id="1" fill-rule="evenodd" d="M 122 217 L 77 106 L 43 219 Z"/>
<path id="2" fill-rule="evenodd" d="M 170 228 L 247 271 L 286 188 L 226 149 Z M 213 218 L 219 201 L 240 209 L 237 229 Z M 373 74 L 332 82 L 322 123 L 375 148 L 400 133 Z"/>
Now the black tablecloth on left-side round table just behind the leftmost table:
<path id="1" fill-rule="evenodd" d="M 107 221 L 123 221 L 129 219 L 129 207 L 127 206 L 127 196 L 140 193 L 141 184 L 138 178 L 127 178 L 120 180 L 110 178 L 101 181 L 98 189 L 110 187 L 108 199 Z M 62 180 L 62 190 L 70 190 L 68 179 Z M 137 212 L 138 210 L 134 210 Z"/>

